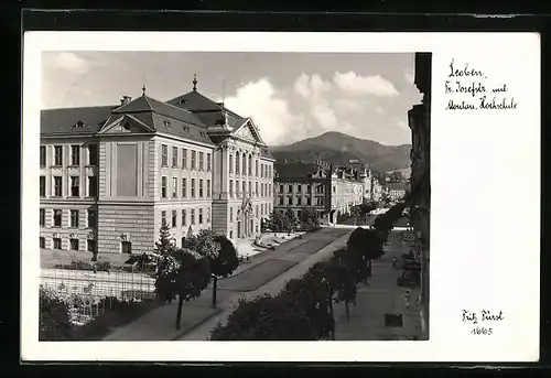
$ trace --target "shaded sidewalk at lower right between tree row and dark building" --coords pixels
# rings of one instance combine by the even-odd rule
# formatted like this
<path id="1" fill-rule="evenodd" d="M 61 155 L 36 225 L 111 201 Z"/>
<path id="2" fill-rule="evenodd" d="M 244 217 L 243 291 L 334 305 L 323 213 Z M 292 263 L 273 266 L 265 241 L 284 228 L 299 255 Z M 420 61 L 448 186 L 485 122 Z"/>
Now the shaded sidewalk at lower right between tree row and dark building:
<path id="1" fill-rule="evenodd" d="M 349 322 L 346 321 L 344 304 L 339 305 L 343 309 L 336 318 L 337 341 L 399 341 L 414 336 L 421 339 L 421 307 L 415 304 L 419 290 L 409 290 L 408 309 L 403 298 L 408 289 L 397 285 L 402 271 L 392 268 L 392 258 L 399 258 L 408 251 L 408 247 L 402 246 L 398 233 L 391 233 L 385 250 L 385 256 L 374 261 L 369 284 L 358 288 L 356 306 L 350 305 Z M 385 326 L 385 314 L 401 314 L 403 326 Z"/>

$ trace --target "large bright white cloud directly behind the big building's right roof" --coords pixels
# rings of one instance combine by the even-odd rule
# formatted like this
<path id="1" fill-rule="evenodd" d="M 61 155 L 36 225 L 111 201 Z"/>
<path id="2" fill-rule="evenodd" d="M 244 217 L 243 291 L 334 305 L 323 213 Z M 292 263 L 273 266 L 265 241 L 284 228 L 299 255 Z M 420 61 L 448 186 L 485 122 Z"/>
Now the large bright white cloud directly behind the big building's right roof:
<path id="1" fill-rule="evenodd" d="M 292 139 L 290 133 L 300 130 L 303 122 L 302 117 L 291 114 L 288 101 L 277 96 L 268 77 L 239 87 L 225 104 L 242 117 L 251 117 L 267 144 L 284 143 Z"/>

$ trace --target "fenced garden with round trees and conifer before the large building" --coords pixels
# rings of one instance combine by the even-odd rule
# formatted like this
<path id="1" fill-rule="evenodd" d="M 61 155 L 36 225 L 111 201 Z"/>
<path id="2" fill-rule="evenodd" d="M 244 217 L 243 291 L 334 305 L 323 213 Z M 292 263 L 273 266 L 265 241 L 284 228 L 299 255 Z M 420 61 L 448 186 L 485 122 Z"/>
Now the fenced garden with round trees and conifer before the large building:
<path id="1" fill-rule="evenodd" d="M 177 301 L 175 327 L 179 330 L 183 304 L 199 296 L 212 282 L 215 306 L 218 279 L 230 276 L 239 263 L 237 250 L 224 235 L 212 230 L 188 234 L 184 247 L 176 248 L 170 228 L 163 225 L 154 251 L 131 256 L 127 261 L 128 271 L 114 272 L 110 264 L 97 261 L 73 261 L 57 267 L 60 271 L 74 272 L 74 277 L 66 277 L 66 282 L 48 284 L 43 277 L 40 339 L 101 339 L 116 327 L 172 301 Z M 137 290 L 136 272 L 142 276 L 142 283 L 149 279 L 150 289 L 145 292 Z M 133 287 L 126 281 L 122 290 L 116 289 L 116 295 L 98 294 L 98 282 L 111 290 L 114 284 L 125 282 L 112 277 L 117 274 L 130 277 Z M 102 276 L 100 280 L 99 276 Z M 90 278 L 96 280 L 90 282 Z"/>

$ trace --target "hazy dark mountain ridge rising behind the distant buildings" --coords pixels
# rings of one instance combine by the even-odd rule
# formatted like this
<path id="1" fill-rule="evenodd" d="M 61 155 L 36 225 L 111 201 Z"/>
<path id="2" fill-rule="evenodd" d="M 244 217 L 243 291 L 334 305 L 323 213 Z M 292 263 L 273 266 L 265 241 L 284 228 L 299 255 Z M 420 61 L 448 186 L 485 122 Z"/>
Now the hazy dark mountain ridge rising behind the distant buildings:
<path id="1" fill-rule="evenodd" d="M 411 164 L 410 150 L 411 144 L 385 145 L 337 131 L 288 145 L 270 147 L 270 152 L 279 162 L 302 160 L 312 163 L 321 159 L 333 164 L 346 164 L 350 159 L 357 159 L 379 172 L 408 169 Z"/>

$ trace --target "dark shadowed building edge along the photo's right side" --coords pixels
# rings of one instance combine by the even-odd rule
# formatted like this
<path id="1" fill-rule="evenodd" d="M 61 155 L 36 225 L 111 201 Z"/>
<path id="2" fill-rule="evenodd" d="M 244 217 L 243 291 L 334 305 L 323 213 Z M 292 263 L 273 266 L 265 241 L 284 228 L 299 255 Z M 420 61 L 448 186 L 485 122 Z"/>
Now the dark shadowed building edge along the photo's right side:
<path id="1" fill-rule="evenodd" d="M 430 212 L 431 212 L 431 54 L 415 54 L 415 86 L 423 94 L 422 102 L 409 111 L 411 128 L 411 176 L 409 195 L 410 224 L 421 256 L 421 302 L 429 318 Z M 424 328 L 429 333 L 429 322 Z"/>

